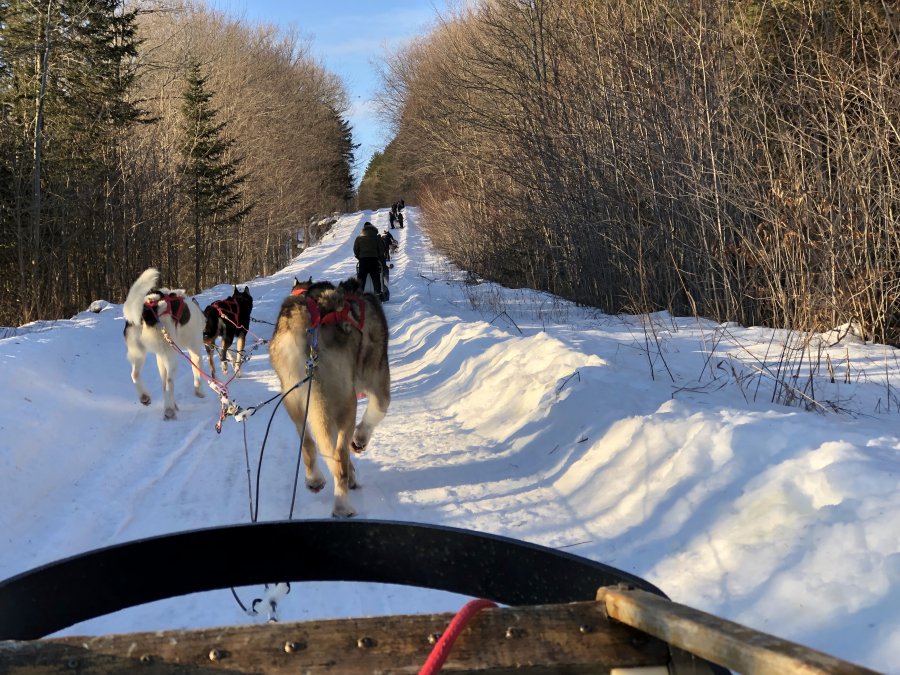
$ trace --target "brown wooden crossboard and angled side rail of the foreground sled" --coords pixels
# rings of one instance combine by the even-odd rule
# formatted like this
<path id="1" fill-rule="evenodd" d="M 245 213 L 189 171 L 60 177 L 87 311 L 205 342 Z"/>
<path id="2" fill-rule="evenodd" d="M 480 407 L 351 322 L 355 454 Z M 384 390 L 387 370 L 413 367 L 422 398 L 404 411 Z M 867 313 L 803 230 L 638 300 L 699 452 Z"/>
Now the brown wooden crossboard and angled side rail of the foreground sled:
<path id="1" fill-rule="evenodd" d="M 0 672 L 414 673 L 452 619 L 423 614 L 0 642 Z M 874 673 L 653 593 L 620 588 L 601 588 L 597 602 L 482 610 L 441 672 L 723 672 L 704 659 L 751 675 Z"/>

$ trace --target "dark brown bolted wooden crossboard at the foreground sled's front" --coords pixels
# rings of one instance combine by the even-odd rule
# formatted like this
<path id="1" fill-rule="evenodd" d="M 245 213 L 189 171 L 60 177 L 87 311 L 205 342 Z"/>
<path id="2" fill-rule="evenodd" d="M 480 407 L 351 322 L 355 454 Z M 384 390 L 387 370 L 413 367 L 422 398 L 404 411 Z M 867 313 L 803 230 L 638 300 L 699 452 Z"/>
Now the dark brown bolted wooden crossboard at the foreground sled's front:
<path id="1" fill-rule="evenodd" d="M 0 673 L 417 673 L 431 652 L 429 636 L 453 616 L 0 642 Z M 597 674 L 668 660 L 661 641 L 610 622 L 601 603 L 580 602 L 482 610 L 453 645 L 442 672 Z"/>

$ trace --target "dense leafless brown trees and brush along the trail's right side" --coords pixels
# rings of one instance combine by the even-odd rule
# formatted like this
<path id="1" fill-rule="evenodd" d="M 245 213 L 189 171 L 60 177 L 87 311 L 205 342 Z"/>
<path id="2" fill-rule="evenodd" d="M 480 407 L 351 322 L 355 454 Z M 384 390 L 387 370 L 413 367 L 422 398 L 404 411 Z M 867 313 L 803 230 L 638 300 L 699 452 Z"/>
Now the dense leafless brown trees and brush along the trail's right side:
<path id="1" fill-rule="evenodd" d="M 900 343 L 896 3 L 484 0 L 384 97 L 378 190 L 466 269 Z"/>

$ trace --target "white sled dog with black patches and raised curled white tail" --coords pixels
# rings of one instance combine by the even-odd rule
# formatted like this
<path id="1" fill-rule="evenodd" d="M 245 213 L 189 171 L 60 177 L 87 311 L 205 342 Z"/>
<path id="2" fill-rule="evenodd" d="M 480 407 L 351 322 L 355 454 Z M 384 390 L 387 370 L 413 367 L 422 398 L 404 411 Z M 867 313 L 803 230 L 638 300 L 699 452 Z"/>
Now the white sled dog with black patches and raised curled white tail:
<path id="1" fill-rule="evenodd" d="M 190 354 L 194 374 L 194 393 L 204 397 L 201 389 L 200 355 L 203 353 L 203 315 L 196 300 L 188 302 L 181 289 L 157 288 L 159 271 L 150 268 L 132 284 L 125 298 L 125 346 L 131 362 L 131 381 L 144 405 L 150 405 L 150 393 L 141 380 L 141 369 L 147 352 L 156 355 L 156 367 L 163 385 L 164 418 L 172 419 L 178 406 L 175 403 L 175 373 L 182 355 L 170 345 L 172 342 Z"/>

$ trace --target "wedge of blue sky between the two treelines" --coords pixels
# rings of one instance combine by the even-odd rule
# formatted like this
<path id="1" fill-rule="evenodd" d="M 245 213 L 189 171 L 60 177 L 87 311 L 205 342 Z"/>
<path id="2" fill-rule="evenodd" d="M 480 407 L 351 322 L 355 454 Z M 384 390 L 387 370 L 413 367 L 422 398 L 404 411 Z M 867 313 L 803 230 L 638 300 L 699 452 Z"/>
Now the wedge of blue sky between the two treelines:
<path id="1" fill-rule="evenodd" d="M 250 23 L 294 27 L 311 42 L 312 53 L 338 75 L 350 96 L 357 179 L 372 154 L 388 143 L 388 130 L 375 116 L 379 87 L 376 62 L 418 35 L 426 34 L 446 0 L 207 0 L 207 4 Z"/>

